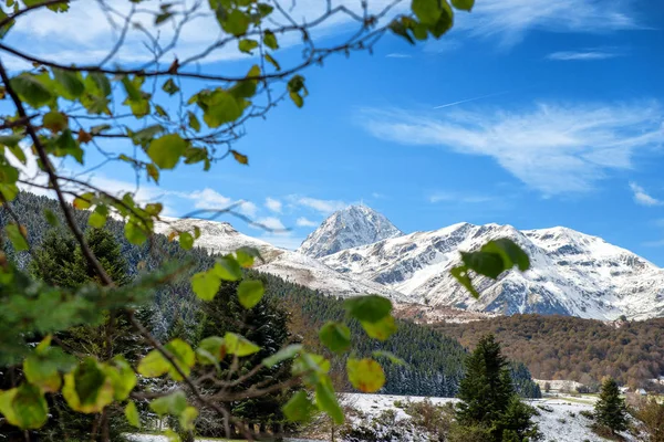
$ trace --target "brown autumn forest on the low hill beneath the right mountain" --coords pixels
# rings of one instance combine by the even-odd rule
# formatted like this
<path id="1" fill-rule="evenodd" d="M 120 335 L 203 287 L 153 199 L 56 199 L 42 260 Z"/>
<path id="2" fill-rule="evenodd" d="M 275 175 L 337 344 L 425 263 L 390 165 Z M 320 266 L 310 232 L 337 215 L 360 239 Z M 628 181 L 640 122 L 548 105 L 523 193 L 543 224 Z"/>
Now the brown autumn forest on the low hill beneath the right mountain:
<path id="1" fill-rule="evenodd" d="M 604 323 L 570 316 L 513 315 L 467 324 L 437 324 L 436 330 L 473 347 L 494 333 L 509 358 L 523 361 L 536 379 L 599 385 L 611 376 L 650 387 L 664 375 L 664 318 Z"/>

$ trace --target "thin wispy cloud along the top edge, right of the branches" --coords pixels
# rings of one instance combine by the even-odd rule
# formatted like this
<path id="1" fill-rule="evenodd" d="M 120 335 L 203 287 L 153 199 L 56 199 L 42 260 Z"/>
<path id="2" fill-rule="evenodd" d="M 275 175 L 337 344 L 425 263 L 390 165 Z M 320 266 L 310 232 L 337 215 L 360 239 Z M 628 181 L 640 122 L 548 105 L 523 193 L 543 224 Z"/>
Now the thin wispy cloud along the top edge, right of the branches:
<path id="1" fill-rule="evenodd" d="M 630 0 L 483 0 L 473 13 L 459 14 L 458 27 L 471 34 L 520 42 L 536 30 L 599 33 L 640 29 Z"/>

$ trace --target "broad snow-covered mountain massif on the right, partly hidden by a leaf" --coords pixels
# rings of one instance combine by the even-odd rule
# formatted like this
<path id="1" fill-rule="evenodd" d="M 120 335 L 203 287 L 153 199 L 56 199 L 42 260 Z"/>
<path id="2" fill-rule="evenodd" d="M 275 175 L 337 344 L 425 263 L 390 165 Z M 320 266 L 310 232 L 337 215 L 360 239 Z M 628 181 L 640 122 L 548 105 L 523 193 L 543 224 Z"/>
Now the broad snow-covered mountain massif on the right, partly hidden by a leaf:
<path id="1" fill-rule="evenodd" d="M 477 278 L 474 299 L 449 274 L 458 251 L 510 238 L 529 254 L 531 270 L 500 280 Z M 454 224 L 324 256 L 339 272 L 402 293 L 402 302 L 502 314 L 562 314 L 615 319 L 664 315 L 664 271 L 604 240 L 571 229 L 518 231 L 511 225 Z"/>

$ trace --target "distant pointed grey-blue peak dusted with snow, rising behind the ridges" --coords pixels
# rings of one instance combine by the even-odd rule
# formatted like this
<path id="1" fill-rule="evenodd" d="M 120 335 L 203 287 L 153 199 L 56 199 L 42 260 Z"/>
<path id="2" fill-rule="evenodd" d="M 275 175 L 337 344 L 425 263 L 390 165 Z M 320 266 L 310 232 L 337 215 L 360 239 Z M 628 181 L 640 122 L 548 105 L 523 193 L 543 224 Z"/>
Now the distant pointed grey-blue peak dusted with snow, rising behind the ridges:
<path id="1" fill-rule="evenodd" d="M 321 257 L 340 250 L 372 244 L 403 235 L 387 218 L 366 206 L 349 206 L 339 210 L 314 230 L 298 252 Z"/>

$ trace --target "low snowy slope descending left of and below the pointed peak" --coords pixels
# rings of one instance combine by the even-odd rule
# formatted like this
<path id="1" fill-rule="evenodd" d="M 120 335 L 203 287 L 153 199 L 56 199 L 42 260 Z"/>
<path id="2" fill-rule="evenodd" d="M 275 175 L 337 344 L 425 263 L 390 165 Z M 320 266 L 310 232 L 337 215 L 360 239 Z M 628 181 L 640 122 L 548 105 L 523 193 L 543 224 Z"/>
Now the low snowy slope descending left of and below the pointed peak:
<path id="1" fill-rule="evenodd" d="M 174 229 L 191 232 L 195 225 L 198 227 L 200 238 L 196 240 L 196 245 L 207 249 L 210 253 L 226 254 L 242 246 L 256 248 L 266 261 L 264 263 L 256 262 L 258 271 L 280 276 L 312 290 L 338 296 L 367 293 L 387 297 L 398 296 L 390 287 L 372 281 L 363 281 L 361 277 L 342 275 L 313 257 L 242 234 L 227 222 L 167 217 L 162 217 L 162 220 L 165 222 L 155 225 L 157 233 L 168 234 Z"/>

